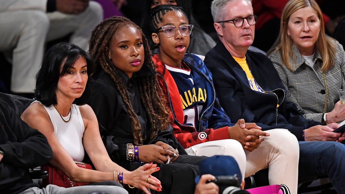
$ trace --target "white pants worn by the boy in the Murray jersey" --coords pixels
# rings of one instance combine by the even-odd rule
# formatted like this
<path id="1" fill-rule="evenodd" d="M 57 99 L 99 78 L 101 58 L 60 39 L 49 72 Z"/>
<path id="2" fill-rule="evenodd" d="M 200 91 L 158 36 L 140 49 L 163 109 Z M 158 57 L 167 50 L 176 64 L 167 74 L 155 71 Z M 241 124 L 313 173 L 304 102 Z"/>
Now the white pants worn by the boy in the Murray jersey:
<path id="1" fill-rule="evenodd" d="M 270 134 L 253 152 L 244 151 L 234 139 L 223 139 L 189 147 L 189 155 L 233 156 L 242 177 L 248 177 L 261 169 L 268 168 L 269 184 L 285 184 L 292 194 L 297 193 L 299 146 L 297 138 L 287 129 L 267 130 Z"/>

